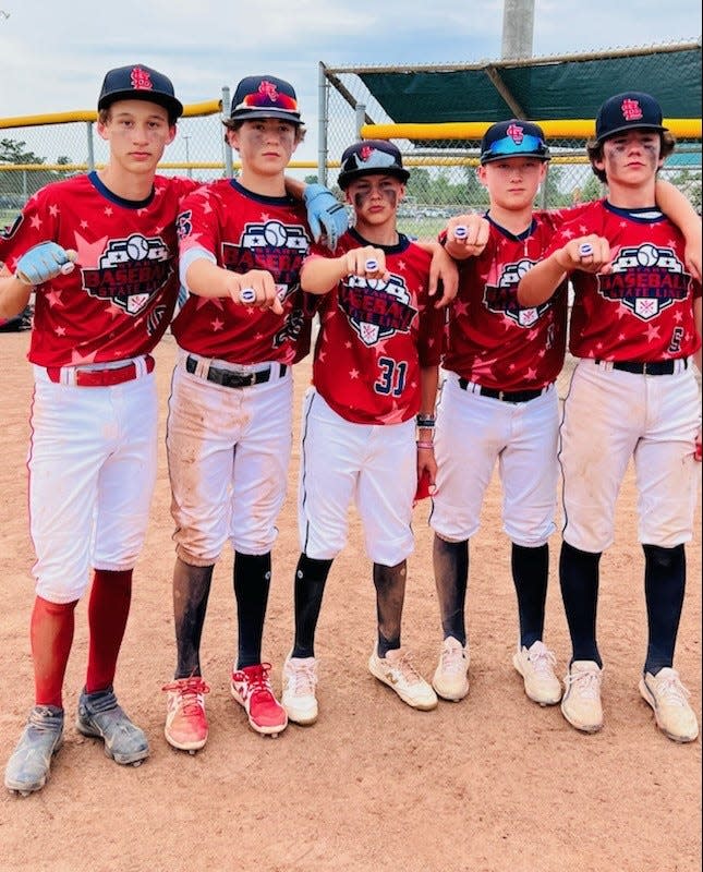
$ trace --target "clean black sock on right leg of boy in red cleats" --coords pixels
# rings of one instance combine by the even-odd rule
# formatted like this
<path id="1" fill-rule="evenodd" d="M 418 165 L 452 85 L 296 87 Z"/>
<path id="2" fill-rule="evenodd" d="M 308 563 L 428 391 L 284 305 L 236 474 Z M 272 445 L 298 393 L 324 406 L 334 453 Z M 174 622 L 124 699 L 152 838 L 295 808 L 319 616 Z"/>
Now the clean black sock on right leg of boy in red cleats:
<path id="1" fill-rule="evenodd" d="M 271 583 L 271 553 L 254 555 L 234 552 L 234 596 L 239 645 L 237 668 L 262 662 L 264 620 Z"/>

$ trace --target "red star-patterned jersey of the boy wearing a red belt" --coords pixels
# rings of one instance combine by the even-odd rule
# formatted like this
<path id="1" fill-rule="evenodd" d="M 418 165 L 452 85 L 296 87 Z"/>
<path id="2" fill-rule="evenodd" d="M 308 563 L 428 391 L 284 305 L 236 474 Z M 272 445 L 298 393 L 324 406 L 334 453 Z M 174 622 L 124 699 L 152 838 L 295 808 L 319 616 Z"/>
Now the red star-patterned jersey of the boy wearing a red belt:
<path id="1" fill-rule="evenodd" d="M 14 272 L 40 242 L 77 251 L 76 268 L 36 288 L 28 359 L 40 366 L 120 361 L 154 349 L 179 289 L 175 218 L 195 183 L 157 175 L 141 202 L 112 194 L 97 173 L 46 185 L 0 240 Z"/>

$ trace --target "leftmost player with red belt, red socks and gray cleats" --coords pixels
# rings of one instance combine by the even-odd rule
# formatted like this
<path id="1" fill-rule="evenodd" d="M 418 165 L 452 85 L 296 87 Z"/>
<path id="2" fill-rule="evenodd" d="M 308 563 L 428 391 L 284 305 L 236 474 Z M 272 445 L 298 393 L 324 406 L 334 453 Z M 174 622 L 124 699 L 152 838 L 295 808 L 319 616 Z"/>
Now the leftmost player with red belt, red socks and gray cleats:
<path id="1" fill-rule="evenodd" d="M 62 741 L 74 610 L 88 584 L 89 646 L 76 727 L 117 763 L 148 755 L 113 679 L 156 476 L 151 350 L 178 291 L 175 217 L 193 182 L 156 175 L 183 107 L 162 73 L 110 70 L 98 100 L 104 169 L 37 192 L 0 241 L 0 316 L 34 289 L 29 517 L 36 549 L 35 706 L 4 783 L 39 790 Z M 77 264 L 72 263 L 77 258 Z"/>

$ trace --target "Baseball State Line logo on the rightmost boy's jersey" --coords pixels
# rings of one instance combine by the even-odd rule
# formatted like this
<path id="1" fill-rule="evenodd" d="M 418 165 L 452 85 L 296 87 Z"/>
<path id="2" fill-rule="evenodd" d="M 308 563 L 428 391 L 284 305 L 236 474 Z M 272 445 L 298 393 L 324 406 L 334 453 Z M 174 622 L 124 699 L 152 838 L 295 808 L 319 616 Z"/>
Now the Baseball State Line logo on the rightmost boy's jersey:
<path id="1" fill-rule="evenodd" d="M 674 302 L 686 300 L 690 276 L 672 249 L 645 243 L 620 249 L 611 271 L 597 279 L 602 296 L 622 303 L 646 322 Z"/>

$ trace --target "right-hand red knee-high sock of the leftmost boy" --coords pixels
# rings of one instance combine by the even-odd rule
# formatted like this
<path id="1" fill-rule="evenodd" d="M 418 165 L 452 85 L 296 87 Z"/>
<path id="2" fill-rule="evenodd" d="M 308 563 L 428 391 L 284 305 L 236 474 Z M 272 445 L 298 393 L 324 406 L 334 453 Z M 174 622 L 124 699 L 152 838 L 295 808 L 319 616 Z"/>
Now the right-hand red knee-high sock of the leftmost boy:
<path id="1" fill-rule="evenodd" d="M 132 600 L 132 570 L 96 569 L 88 602 L 88 693 L 105 690 L 114 681 L 117 658 L 124 637 Z"/>

